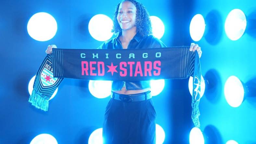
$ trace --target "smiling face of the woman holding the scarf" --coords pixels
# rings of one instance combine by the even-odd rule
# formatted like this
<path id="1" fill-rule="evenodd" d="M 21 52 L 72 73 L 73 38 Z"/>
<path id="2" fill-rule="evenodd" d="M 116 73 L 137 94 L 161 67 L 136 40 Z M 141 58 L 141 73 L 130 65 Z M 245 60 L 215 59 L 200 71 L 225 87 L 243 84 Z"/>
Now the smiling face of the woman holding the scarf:
<path id="1" fill-rule="evenodd" d="M 122 2 L 119 6 L 117 21 L 122 30 L 135 28 L 136 7 L 130 1 Z"/>

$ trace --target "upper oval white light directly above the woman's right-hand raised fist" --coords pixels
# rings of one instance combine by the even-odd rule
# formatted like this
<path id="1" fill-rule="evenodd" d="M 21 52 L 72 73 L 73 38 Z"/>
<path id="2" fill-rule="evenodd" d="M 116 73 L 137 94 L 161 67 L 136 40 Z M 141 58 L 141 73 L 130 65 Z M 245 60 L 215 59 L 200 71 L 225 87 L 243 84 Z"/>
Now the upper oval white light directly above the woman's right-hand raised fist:
<path id="1" fill-rule="evenodd" d="M 204 35 L 205 21 L 200 14 L 195 15 L 190 22 L 189 33 L 193 41 L 198 42 Z"/>

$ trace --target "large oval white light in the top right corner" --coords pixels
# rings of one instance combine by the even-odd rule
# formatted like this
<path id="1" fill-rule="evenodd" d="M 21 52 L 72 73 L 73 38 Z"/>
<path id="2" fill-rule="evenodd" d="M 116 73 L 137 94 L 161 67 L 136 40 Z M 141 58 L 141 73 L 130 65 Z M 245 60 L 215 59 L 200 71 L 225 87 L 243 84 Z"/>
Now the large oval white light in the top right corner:
<path id="1" fill-rule="evenodd" d="M 238 40 L 244 34 L 246 23 L 246 17 L 243 11 L 240 9 L 230 11 L 225 21 L 227 37 L 232 41 Z"/>

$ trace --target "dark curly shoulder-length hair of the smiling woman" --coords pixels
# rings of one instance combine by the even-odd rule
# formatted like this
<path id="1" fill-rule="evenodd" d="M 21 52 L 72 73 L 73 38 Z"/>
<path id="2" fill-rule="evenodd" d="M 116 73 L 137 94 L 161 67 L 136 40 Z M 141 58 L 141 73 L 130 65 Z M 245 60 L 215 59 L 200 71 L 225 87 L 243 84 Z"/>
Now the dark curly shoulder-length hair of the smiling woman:
<path id="1" fill-rule="evenodd" d="M 136 33 L 139 33 L 143 37 L 152 34 L 151 21 L 149 19 L 149 14 L 147 12 L 147 9 L 140 2 L 137 2 L 136 0 L 123 0 L 117 5 L 116 11 L 114 13 L 114 18 L 113 18 L 114 25 L 111 32 L 114 32 L 115 34 L 122 32 L 122 29 L 117 20 L 117 15 L 118 15 L 120 4 L 125 1 L 132 2 L 136 7 L 136 20 L 135 20 Z"/>

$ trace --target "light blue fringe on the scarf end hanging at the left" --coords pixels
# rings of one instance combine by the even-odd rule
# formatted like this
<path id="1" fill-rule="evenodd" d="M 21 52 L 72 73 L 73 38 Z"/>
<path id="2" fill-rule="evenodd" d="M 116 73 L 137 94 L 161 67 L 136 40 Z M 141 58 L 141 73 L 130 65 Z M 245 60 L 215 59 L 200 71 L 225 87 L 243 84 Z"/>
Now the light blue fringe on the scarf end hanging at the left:
<path id="1" fill-rule="evenodd" d="M 43 111 L 48 110 L 49 100 L 45 99 L 44 96 L 35 89 L 33 89 L 29 97 L 29 102 L 38 109 Z"/>

